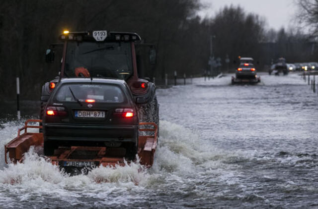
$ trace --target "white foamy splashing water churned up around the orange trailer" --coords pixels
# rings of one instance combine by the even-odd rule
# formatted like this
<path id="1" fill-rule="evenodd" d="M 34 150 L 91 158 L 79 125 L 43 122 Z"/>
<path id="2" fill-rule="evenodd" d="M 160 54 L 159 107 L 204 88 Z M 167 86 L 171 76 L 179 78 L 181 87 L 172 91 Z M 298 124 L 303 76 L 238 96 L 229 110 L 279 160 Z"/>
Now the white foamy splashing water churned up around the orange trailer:
<path id="1" fill-rule="evenodd" d="M 13 133 L 21 124 L 4 126 L 0 130 L 7 132 L 5 140 L 1 140 L 3 144 L 15 137 Z M 66 207 L 83 208 L 92 203 L 96 207 L 131 206 L 168 187 L 181 184 L 186 189 L 189 182 L 186 183 L 185 178 L 197 172 L 196 166 L 215 169 L 233 156 L 209 146 L 190 129 L 167 121 L 160 121 L 160 135 L 155 163 L 150 169 L 137 161 L 125 166 L 101 166 L 87 175 L 70 176 L 31 148 L 23 163 L 10 163 L 0 170 L 0 196 L 5 197 L 0 199 L 0 206 L 21 207 L 26 202 L 38 207 L 46 202 L 47 205 L 63 203 Z M 0 155 L 3 156 L 3 150 Z M 211 163 L 211 159 L 215 162 Z M 191 181 L 193 186 L 196 180 Z"/>

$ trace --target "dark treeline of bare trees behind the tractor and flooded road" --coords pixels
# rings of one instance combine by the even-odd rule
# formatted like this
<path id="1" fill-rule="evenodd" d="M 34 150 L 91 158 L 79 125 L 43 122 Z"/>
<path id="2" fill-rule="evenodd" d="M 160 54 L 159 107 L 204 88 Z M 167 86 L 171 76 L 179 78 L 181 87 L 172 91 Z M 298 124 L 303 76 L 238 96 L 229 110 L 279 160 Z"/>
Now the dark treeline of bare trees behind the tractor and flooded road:
<path id="1" fill-rule="evenodd" d="M 22 96 L 39 98 L 42 84 L 59 71 L 45 63 L 45 50 L 64 29 L 137 32 L 146 43 L 156 45 L 153 75 L 158 79 L 174 71 L 201 75 L 208 70 L 211 36 L 213 56 L 222 64 L 219 70 L 226 70 L 226 57 L 229 69 L 239 55 L 270 62 L 260 44 L 280 39 L 268 38 L 263 18 L 239 6 L 201 18 L 197 12 L 203 6 L 199 0 L 1 0 L 0 97 L 14 97 L 19 76 Z"/>

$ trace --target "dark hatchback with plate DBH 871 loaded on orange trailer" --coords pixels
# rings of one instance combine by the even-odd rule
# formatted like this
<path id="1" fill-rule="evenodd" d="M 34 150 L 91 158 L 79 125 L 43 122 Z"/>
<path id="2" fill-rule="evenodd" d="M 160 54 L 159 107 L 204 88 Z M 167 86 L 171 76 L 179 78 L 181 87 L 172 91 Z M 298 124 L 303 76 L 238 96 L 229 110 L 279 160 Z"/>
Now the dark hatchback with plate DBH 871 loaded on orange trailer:
<path id="1" fill-rule="evenodd" d="M 106 147 L 133 160 L 138 124 L 136 104 L 125 81 L 62 79 L 45 108 L 44 155 L 53 156 L 59 147 Z"/>

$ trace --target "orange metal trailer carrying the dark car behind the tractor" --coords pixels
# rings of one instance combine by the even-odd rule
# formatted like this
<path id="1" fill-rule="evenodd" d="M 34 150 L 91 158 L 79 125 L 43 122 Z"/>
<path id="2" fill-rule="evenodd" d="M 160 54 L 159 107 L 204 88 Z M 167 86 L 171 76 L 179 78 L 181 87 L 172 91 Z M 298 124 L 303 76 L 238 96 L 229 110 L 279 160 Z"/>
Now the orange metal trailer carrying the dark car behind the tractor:
<path id="1" fill-rule="evenodd" d="M 18 130 L 17 137 L 4 145 L 5 163 L 8 163 L 8 158 L 13 163 L 23 163 L 24 154 L 32 146 L 38 148 L 35 150 L 43 149 L 43 133 L 28 132 L 29 128 L 41 129 L 42 126 L 30 125 L 32 122 L 41 124 L 42 120 L 26 120 L 24 126 Z M 21 134 L 21 132 L 23 133 Z M 139 123 L 139 132 L 138 157 L 140 164 L 151 167 L 157 148 L 158 127 L 153 122 Z M 73 168 L 125 165 L 125 152 L 123 148 L 72 146 L 59 147 L 54 151 L 53 156 L 45 157 L 52 164 L 70 170 Z"/>

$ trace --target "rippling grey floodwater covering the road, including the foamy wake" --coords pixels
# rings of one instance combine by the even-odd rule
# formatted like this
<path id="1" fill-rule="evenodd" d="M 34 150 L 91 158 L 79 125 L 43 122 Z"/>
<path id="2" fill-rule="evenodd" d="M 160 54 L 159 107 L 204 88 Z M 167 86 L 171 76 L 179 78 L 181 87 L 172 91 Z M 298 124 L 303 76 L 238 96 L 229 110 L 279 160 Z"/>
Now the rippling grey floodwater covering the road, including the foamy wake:
<path id="1" fill-rule="evenodd" d="M 261 78 L 157 90 L 159 148 L 148 170 L 69 176 L 32 150 L 7 166 L 3 145 L 22 122 L 3 120 L 0 208 L 318 208 L 318 96 L 297 74 Z"/>

